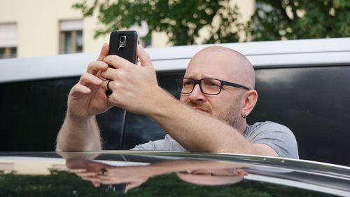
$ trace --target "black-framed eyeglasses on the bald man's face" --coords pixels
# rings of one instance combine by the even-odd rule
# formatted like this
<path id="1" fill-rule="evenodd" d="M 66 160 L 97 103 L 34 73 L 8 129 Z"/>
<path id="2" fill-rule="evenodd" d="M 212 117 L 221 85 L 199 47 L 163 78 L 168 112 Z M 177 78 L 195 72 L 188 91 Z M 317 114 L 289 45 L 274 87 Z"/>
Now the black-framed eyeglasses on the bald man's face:
<path id="1" fill-rule="evenodd" d="M 232 86 L 236 88 L 244 88 L 250 90 L 246 86 L 239 85 L 237 83 L 231 83 L 228 81 L 223 81 L 220 79 L 190 79 L 190 78 L 181 78 L 176 79 L 176 89 L 181 94 L 190 94 L 195 89 L 195 86 L 199 84 L 200 90 L 203 94 L 206 95 L 218 95 L 221 93 L 223 86 Z"/>

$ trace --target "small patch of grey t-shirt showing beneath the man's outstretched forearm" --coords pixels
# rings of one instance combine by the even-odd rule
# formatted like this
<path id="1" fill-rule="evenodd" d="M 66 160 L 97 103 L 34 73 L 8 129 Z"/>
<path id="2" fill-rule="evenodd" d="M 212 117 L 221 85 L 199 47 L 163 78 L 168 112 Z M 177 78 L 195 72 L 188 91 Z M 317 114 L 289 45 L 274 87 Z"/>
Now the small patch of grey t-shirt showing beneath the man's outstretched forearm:
<path id="1" fill-rule="evenodd" d="M 170 135 L 165 135 L 164 140 L 149 141 L 134 147 L 134 151 L 186 151 Z"/>

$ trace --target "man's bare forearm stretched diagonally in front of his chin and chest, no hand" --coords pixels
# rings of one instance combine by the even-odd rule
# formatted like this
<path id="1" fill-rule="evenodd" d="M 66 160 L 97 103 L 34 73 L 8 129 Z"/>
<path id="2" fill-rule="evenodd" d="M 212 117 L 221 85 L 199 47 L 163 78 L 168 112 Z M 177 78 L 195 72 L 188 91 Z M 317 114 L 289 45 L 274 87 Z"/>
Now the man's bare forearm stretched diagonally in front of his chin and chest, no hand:
<path id="1" fill-rule="evenodd" d="M 150 116 L 188 151 L 255 154 L 253 144 L 237 130 L 200 114 L 162 90 Z"/>

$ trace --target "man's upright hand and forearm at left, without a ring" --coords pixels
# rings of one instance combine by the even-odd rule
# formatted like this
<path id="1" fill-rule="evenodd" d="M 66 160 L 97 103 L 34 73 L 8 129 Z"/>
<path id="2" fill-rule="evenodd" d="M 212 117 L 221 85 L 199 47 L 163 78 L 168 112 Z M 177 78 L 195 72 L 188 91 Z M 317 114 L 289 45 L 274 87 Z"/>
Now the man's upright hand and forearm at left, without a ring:
<path id="1" fill-rule="evenodd" d="M 102 149 L 99 128 L 94 115 L 113 107 L 102 84 L 101 73 L 108 69 L 102 62 L 109 55 L 109 45 L 104 44 L 97 61 L 90 62 L 87 72 L 71 88 L 68 108 L 62 128 L 57 135 L 56 151 L 99 151 Z"/>

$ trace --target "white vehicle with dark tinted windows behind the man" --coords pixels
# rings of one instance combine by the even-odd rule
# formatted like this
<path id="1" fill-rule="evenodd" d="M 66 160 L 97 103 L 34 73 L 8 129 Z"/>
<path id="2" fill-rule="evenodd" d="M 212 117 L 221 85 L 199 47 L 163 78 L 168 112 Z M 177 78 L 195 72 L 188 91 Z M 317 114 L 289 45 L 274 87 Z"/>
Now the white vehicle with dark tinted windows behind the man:
<path id="1" fill-rule="evenodd" d="M 255 68 L 259 99 L 249 124 L 286 125 L 297 139 L 300 158 L 350 165 L 350 38 L 217 45 L 246 55 Z M 146 48 L 160 86 L 179 97 L 175 79 L 207 46 Z M 0 151 L 54 151 L 69 90 L 97 55 L 0 60 Z M 107 150 L 131 149 L 165 136 L 151 118 L 118 107 L 97 120 Z"/>

